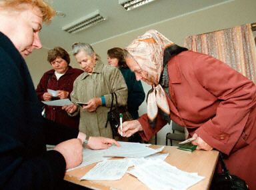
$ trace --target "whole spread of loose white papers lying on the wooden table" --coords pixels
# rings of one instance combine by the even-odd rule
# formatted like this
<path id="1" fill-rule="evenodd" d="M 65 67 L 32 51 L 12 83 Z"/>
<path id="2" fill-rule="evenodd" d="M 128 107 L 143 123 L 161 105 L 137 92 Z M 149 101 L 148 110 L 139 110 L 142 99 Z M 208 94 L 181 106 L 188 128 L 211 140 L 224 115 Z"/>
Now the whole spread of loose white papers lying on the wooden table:
<path id="1" fill-rule="evenodd" d="M 147 144 L 119 142 L 121 147 L 115 145 L 109 149 L 93 151 L 85 149 L 83 163 L 85 166 L 99 162 L 88 171 L 81 180 L 119 180 L 129 173 L 147 185 L 149 189 L 188 189 L 204 177 L 197 173 L 188 173 L 173 167 L 164 160 L 168 154 L 161 154 L 159 149 L 151 149 Z M 111 157 L 126 157 L 125 159 L 111 159 Z M 127 171 L 129 167 L 133 169 Z"/>

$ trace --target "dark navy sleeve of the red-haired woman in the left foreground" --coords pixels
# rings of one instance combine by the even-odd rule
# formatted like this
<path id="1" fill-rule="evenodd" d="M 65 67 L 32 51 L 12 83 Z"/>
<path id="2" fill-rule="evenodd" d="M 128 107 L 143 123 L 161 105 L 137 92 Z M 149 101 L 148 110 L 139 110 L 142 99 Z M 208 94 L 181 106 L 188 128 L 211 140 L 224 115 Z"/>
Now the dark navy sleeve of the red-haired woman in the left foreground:
<path id="1" fill-rule="evenodd" d="M 52 189 L 63 179 L 65 159 L 57 151 L 45 151 L 27 66 L 4 52 L 0 49 L 0 189 Z"/>

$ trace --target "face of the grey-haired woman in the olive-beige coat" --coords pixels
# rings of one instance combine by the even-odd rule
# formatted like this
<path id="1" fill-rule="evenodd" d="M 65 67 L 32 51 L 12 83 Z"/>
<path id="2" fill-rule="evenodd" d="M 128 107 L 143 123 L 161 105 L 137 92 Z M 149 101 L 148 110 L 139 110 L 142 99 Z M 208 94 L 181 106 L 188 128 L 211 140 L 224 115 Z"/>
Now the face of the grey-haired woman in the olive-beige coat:
<path id="1" fill-rule="evenodd" d="M 87 73 L 92 73 L 93 68 L 96 64 L 96 55 L 92 56 L 88 55 L 85 51 L 81 50 L 79 53 L 75 55 L 75 59 L 77 59 L 77 63 L 79 63 L 81 69 L 86 71 Z"/>

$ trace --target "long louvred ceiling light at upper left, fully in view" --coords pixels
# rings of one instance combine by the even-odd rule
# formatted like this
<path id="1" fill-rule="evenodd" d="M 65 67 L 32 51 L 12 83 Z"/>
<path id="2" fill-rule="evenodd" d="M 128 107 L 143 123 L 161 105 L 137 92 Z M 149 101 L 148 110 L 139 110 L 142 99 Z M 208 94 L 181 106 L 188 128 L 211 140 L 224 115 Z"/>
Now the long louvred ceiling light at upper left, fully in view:
<path id="1" fill-rule="evenodd" d="M 106 18 L 103 17 L 97 10 L 89 15 L 86 15 L 85 17 L 81 17 L 77 21 L 73 21 L 72 23 L 65 25 L 62 27 L 62 30 L 67 31 L 68 33 L 77 33 L 83 29 L 87 29 L 96 25 L 97 23 L 105 21 L 105 19 Z"/>

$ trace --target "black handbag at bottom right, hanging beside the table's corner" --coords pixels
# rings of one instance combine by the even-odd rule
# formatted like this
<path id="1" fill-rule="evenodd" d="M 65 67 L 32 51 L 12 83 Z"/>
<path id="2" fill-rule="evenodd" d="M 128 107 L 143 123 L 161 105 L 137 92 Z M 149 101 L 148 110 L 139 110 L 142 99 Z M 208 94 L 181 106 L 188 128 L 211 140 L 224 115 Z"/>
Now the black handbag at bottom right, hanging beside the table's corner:
<path id="1" fill-rule="evenodd" d="M 219 161 L 221 162 L 222 173 L 215 173 L 213 175 L 210 190 L 249 190 L 248 185 L 243 179 L 236 175 L 230 175 L 221 152 L 219 152 Z"/>

